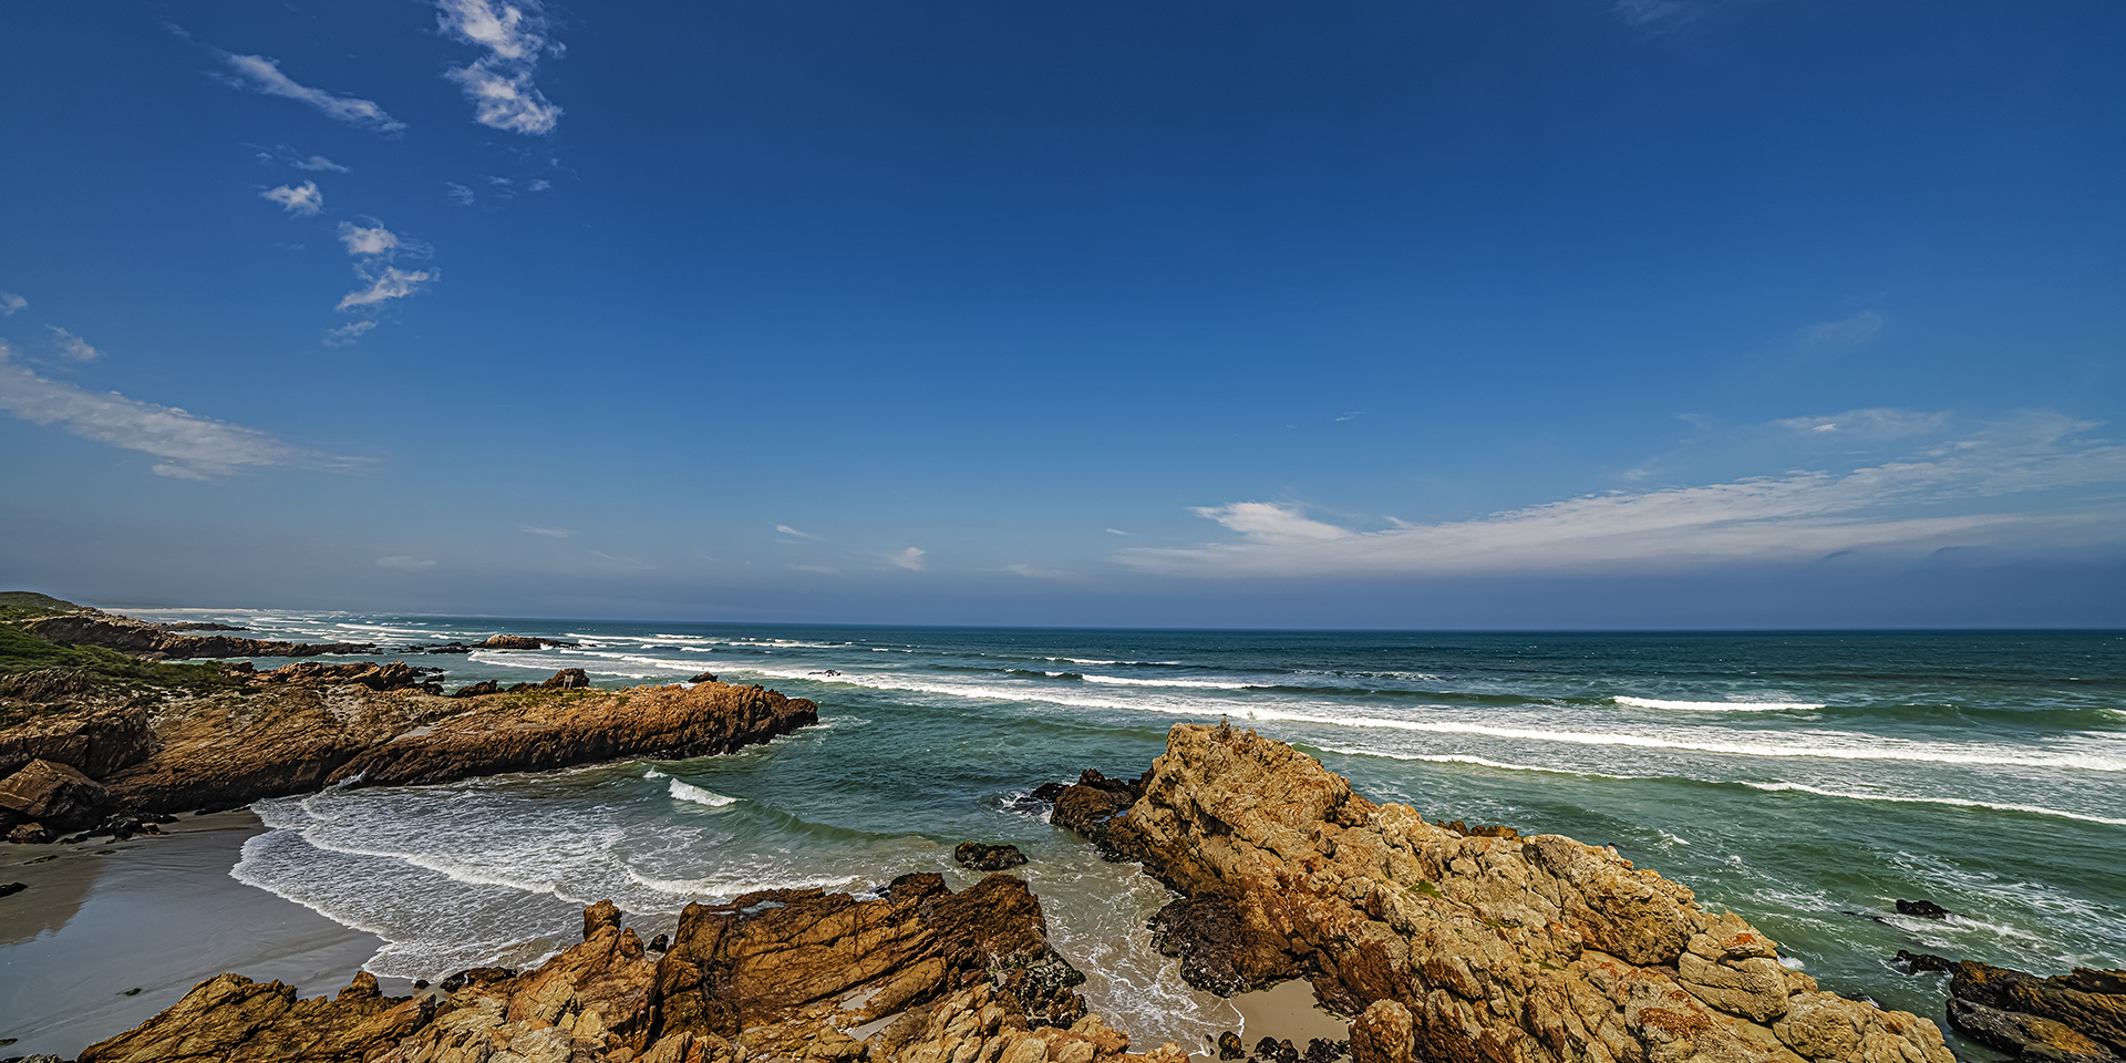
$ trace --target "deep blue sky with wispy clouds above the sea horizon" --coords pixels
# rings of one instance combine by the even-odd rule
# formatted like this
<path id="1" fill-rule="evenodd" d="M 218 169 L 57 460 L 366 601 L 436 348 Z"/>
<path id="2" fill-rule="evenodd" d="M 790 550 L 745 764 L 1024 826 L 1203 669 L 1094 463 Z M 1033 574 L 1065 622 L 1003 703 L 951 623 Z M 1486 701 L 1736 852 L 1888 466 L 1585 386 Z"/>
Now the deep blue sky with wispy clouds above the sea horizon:
<path id="1" fill-rule="evenodd" d="M 28 2 L 0 580 L 2126 623 L 2126 9 Z"/>

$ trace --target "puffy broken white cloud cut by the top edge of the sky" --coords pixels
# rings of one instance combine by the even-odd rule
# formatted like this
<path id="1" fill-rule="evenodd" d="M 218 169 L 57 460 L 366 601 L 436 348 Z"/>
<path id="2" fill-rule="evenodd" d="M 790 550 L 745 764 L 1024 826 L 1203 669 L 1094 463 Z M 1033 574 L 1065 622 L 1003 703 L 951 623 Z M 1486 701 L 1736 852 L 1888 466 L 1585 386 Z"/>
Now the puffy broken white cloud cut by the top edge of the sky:
<path id="1" fill-rule="evenodd" d="M 532 83 L 542 55 L 559 55 L 561 45 L 546 38 L 546 15 L 532 0 L 493 4 L 489 0 L 438 0 L 436 26 L 455 40 L 487 49 L 470 66 L 449 70 L 472 100 L 472 117 L 480 125 L 549 134 L 561 121 L 561 108 Z"/>

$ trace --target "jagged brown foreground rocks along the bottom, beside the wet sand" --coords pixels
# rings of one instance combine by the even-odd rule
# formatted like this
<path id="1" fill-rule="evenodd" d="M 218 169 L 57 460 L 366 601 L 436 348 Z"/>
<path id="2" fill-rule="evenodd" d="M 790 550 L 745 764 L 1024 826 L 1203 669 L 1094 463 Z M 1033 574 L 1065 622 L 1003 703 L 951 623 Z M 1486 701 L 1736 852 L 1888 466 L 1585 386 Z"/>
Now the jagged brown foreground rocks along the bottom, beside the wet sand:
<path id="1" fill-rule="evenodd" d="M 1046 972 L 1046 974 L 1042 974 Z M 338 999 L 223 974 L 81 1063 L 1184 1063 L 1069 991 L 1016 878 L 950 893 L 904 876 L 876 901 L 770 891 L 689 906 L 661 961 L 600 901 L 583 944 L 527 974 L 476 969 L 446 995 Z M 1059 1014 L 1078 1014 L 1054 1025 Z"/>

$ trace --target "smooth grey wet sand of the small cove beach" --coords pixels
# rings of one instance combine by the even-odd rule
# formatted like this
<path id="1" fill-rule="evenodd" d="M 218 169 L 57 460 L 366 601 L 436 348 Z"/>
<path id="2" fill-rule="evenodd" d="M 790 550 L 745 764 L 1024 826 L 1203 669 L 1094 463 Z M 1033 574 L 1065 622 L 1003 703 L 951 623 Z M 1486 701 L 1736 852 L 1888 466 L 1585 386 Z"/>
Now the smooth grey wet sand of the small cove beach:
<path id="1" fill-rule="evenodd" d="M 83 1048 L 221 972 L 336 993 L 385 942 L 230 878 L 251 812 L 183 816 L 164 836 L 0 844 L 0 1059 Z M 406 986 L 385 986 L 408 993 Z M 130 993 L 130 995 L 128 995 Z"/>

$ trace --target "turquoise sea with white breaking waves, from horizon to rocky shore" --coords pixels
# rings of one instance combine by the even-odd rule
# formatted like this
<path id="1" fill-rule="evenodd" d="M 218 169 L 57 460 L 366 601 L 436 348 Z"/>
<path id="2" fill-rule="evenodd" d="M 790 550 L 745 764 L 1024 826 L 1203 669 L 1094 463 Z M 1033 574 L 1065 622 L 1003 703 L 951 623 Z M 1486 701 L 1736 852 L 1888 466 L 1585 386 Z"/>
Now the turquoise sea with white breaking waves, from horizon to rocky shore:
<path id="1" fill-rule="evenodd" d="M 612 897 L 646 933 L 691 899 L 912 870 L 1006 840 L 1140 1044 L 1237 1020 L 1148 948 L 1167 895 L 1014 799 L 1137 774 L 1176 721 L 1231 716 L 1380 802 L 1614 844 L 1777 938 L 1826 989 L 1939 1018 L 1899 948 L 2039 974 L 2126 967 L 2126 636 L 1267 634 L 789 627 L 338 614 L 261 638 L 536 634 L 583 646 L 412 655 L 446 685 L 585 668 L 716 672 L 821 725 L 729 757 L 264 802 L 232 874 L 391 944 L 370 969 L 529 963 Z M 272 665 L 281 661 L 259 661 Z M 1901 916 L 1930 899 L 1947 921 Z M 1960 1046 L 1969 1050 L 1969 1046 Z"/>

